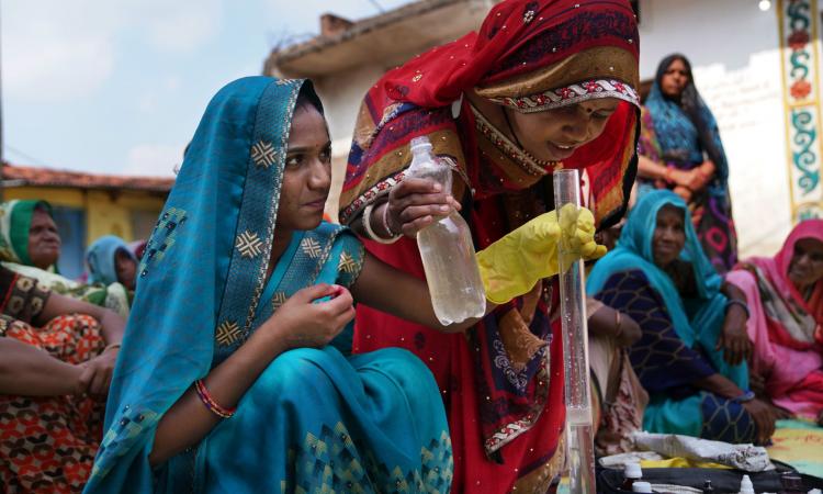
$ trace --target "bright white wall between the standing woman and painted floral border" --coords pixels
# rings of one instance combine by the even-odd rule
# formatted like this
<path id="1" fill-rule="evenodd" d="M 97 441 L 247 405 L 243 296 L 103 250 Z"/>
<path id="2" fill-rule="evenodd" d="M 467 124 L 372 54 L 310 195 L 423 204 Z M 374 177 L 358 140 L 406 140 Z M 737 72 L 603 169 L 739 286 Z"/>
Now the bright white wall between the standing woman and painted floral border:
<path id="1" fill-rule="evenodd" d="M 670 53 L 691 61 L 729 158 L 741 256 L 774 254 L 791 227 L 776 5 L 642 0 L 640 36 L 643 79 Z"/>

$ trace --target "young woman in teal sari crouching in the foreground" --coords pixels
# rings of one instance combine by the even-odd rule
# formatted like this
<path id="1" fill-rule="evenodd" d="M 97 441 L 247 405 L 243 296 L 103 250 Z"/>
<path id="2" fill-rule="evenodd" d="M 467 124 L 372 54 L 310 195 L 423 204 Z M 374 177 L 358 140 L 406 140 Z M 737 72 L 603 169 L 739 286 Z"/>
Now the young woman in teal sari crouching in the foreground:
<path id="1" fill-rule="evenodd" d="M 352 301 L 441 330 L 476 319 L 441 326 L 422 280 L 322 223 L 329 187 L 311 83 L 213 98 L 140 261 L 87 492 L 449 491 L 431 373 L 402 349 L 350 356 Z M 520 240 L 548 265 L 560 232 L 538 231 Z"/>

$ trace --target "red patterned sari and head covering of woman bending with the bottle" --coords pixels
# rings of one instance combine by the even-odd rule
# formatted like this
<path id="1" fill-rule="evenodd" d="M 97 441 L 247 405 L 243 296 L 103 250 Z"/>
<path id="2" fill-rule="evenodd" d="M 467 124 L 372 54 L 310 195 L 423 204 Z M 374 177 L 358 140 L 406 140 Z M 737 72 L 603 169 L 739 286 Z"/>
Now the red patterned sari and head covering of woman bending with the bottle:
<path id="1" fill-rule="evenodd" d="M 435 153 L 454 162 L 459 179 L 452 192 L 464 203 L 462 214 L 477 248 L 553 209 L 551 172 L 557 167 L 586 168 L 587 205 L 601 226 L 618 221 L 636 170 L 638 49 L 636 22 L 624 0 L 496 4 L 478 32 L 415 57 L 369 90 L 349 154 L 340 222 L 350 224 L 365 205 L 403 180 L 410 164 L 409 142 L 422 135 L 429 137 Z M 499 131 L 463 98 L 471 90 L 519 112 L 597 98 L 616 98 L 620 104 L 597 139 L 563 164 L 541 162 L 499 138 Z M 365 244 L 390 265 L 422 274 L 414 240 Z M 425 359 L 438 379 L 471 386 L 463 391 L 465 415 L 452 416 L 451 423 L 464 422 L 466 430 L 480 429 L 486 459 L 503 463 L 510 453 L 514 459 L 508 461 L 521 462 L 523 468 L 515 476 L 523 480 L 533 472 L 533 476 L 551 480 L 554 463 L 563 461 L 562 435 L 555 428 L 564 416 L 563 378 L 561 364 L 548 363 L 549 356 L 560 361 L 560 340 L 553 340 L 553 327 L 559 325 L 552 324 L 550 314 L 556 306 L 556 290 L 546 285 L 542 291 L 541 287 L 498 307 L 469 330 L 467 338 L 432 335 L 421 326 L 361 307 L 356 345 L 368 340 L 375 348 L 396 346 L 388 328 L 415 335 L 416 346 L 409 349 L 418 355 L 437 351 L 438 361 L 449 362 L 446 369 L 437 367 L 446 364 L 432 363 L 433 357 Z M 534 430 L 538 419 L 542 427 Z M 455 427 L 462 426 L 454 425 L 452 434 Z M 465 433 L 466 437 L 474 434 Z M 516 441 L 521 436 L 527 437 Z M 507 445 L 511 445 L 508 452 L 503 450 Z M 460 448 L 455 446 L 458 456 Z M 473 462 L 475 456 L 475 451 L 466 453 L 466 468 L 483 468 Z"/>

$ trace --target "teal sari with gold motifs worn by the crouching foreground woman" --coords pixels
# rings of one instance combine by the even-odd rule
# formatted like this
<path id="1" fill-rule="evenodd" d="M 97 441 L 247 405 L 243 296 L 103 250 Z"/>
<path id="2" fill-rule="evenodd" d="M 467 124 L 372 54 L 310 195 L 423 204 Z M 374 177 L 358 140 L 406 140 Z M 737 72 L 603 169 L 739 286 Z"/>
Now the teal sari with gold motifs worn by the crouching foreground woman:
<path id="1" fill-rule="evenodd" d="M 324 223 L 295 232 L 267 279 L 304 86 L 245 78 L 206 109 L 140 263 L 86 492 L 449 491 L 451 445 L 431 373 L 405 350 L 349 356 L 350 327 L 326 348 L 280 355 L 232 418 L 148 463 L 159 419 L 194 380 L 297 290 L 350 287 L 360 273 L 360 242 Z"/>

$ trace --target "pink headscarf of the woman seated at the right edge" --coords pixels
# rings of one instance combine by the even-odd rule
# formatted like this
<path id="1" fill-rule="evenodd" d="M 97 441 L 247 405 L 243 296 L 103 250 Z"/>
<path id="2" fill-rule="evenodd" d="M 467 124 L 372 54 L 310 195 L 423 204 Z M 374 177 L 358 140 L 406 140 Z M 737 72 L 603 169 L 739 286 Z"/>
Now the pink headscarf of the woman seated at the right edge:
<path id="1" fill-rule="evenodd" d="M 799 223 L 775 257 L 753 257 L 737 266 L 737 269 L 753 271 L 760 292 L 771 295 L 762 296 L 769 338 L 798 350 L 809 349 L 815 341 L 823 345 L 823 280 L 814 283 L 808 301 L 789 280 L 794 245 L 804 238 L 823 242 L 823 220 Z"/>

